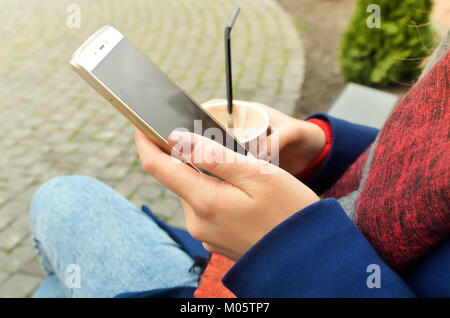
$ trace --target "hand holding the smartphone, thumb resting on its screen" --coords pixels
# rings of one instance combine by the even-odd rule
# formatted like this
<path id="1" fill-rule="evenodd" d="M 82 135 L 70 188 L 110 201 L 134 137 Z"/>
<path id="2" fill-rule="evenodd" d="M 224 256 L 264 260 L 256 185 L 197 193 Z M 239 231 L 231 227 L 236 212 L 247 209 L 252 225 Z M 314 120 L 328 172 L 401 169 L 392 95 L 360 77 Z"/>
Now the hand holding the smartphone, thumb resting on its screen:
<path id="1" fill-rule="evenodd" d="M 144 169 L 179 196 L 189 233 L 208 251 L 232 260 L 292 214 L 319 200 L 285 170 L 199 135 L 174 131 L 169 144 L 179 156 L 222 180 L 164 153 L 139 130 L 135 140 Z"/>

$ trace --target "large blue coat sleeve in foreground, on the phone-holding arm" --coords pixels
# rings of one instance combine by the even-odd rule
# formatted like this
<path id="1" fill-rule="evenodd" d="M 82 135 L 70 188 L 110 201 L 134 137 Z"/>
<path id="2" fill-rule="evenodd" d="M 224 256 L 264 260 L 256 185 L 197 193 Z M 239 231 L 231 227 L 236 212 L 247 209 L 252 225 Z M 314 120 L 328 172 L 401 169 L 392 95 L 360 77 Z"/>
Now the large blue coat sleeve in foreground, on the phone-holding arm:
<path id="1" fill-rule="evenodd" d="M 414 297 L 335 199 L 297 212 L 226 274 L 238 297 Z"/>

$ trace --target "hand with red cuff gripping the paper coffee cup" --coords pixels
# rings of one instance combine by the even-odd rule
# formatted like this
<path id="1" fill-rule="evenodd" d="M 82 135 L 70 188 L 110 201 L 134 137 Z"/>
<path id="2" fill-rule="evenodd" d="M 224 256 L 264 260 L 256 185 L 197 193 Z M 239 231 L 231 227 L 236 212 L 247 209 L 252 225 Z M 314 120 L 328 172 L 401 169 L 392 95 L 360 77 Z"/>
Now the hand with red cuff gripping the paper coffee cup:
<path id="1" fill-rule="evenodd" d="M 224 101 L 215 99 L 207 101 L 205 104 Z M 274 136 L 279 137 L 280 168 L 294 176 L 301 173 L 317 158 L 325 146 L 326 139 L 323 130 L 315 124 L 290 117 L 264 104 L 252 104 L 267 112 L 271 131 L 277 131 L 277 134 L 268 137 L 267 144 L 271 144 L 271 138 Z M 271 155 L 270 147 L 268 155 Z"/>

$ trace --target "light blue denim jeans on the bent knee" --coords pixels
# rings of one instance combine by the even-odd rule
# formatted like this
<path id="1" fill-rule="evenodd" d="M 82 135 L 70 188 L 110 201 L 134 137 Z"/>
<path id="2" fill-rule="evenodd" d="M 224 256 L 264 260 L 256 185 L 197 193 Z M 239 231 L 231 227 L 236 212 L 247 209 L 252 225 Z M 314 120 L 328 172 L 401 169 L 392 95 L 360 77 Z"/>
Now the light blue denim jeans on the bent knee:
<path id="1" fill-rule="evenodd" d="M 148 215 L 96 179 L 53 178 L 34 194 L 30 226 L 48 278 L 34 297 L 113 297 L 196 287 L 194 260 Z"/>

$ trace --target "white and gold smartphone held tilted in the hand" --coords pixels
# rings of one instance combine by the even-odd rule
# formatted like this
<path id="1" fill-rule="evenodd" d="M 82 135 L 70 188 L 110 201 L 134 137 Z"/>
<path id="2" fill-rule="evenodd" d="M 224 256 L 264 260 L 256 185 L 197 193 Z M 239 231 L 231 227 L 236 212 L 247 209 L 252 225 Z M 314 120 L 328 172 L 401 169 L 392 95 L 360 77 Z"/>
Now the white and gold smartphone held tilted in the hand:
<path id="1" fill-rule="evenodd" d="M 248 154 L 225 127 L 115 28 L 104 26 L 95 32 L 75 51 L 70 64 L 166 153 L 171 153 L 167 139 L 173 130 L 205 135 L 207 129 L 216 128 L 225 147 Z"/>

